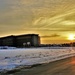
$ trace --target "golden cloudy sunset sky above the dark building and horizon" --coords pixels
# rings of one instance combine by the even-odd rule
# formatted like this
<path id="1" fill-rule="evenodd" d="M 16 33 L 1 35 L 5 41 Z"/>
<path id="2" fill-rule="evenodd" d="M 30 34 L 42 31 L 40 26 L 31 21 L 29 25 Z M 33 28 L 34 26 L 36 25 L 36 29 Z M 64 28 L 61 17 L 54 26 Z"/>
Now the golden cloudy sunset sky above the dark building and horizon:
<path id="1" fill-rule="evenodd" d="M 45 44 L 71 42 L 75 0 L 0 0 L 0 37 L 33 33 Z"/>

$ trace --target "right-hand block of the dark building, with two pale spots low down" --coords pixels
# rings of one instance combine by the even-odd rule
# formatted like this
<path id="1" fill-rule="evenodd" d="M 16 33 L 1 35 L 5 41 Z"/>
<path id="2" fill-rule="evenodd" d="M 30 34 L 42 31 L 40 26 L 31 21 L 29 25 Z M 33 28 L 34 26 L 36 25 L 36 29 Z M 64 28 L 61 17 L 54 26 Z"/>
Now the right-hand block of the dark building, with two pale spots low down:
<path id="1" fill-rule="evenodd" d="M 39 41 L 39 36 L 37 34 L 17 36 L 17 46 L 19 47 L 38 46 L 40 44 Z"/>

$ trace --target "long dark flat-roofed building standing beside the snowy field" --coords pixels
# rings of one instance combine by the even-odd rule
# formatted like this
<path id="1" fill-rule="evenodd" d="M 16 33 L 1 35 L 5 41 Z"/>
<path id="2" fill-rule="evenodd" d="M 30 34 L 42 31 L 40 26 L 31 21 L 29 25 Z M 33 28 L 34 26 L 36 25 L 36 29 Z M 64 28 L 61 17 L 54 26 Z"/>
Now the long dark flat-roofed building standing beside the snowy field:
<path id="1" fill-rule="evenodd" d="M 39 45 L 40 37 L 38 34 L 11 35 L 0 38 L 0 46 L 30 47 Z"/>

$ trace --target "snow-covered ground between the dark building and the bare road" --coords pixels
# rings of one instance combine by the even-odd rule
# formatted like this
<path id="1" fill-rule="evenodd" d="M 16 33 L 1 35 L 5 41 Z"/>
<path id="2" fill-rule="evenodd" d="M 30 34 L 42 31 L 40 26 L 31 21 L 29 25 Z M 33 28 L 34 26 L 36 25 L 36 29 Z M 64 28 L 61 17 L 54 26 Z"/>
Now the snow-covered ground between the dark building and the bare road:
<path id="1" fill-rule="evenodd" d="M 71 47 L 7 48 L 0 49 L 0 71 L 12 70 L 75 56 Z"/>

